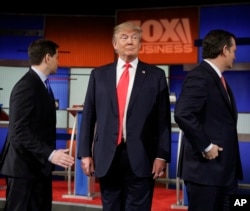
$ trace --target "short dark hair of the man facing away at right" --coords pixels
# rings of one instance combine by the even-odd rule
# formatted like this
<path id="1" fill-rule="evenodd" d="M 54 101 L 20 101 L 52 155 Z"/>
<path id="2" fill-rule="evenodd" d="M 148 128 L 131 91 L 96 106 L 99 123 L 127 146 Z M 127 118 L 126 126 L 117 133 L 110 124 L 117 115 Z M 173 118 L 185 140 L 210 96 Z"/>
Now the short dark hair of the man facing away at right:
<path id="1" fill-rule="evenodd" d="M 213 59 L 222 53 L 224 46 L 232 46 L 232 39 L 236 37 L 231 32 L 215 29 L 208 32 L 202 41 L 202 58 Z"/>

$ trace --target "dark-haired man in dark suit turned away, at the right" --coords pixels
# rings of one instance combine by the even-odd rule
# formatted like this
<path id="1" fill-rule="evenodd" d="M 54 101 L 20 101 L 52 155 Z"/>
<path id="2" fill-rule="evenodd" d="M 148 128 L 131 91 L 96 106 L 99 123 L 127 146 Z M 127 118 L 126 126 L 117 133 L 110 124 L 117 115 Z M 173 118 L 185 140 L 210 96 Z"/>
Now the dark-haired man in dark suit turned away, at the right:
<path id="1" fill-rule="evenodd" d="M 212 30 L 202 43 L 203 61 L 187 73 L 174 118 L 183 131 L 178 175 L 184 179 L 189 211 L 228 211 L 229 196 L 242 179 L 237 108 L 222 73 L 232 68 L 236 38 Z"/>

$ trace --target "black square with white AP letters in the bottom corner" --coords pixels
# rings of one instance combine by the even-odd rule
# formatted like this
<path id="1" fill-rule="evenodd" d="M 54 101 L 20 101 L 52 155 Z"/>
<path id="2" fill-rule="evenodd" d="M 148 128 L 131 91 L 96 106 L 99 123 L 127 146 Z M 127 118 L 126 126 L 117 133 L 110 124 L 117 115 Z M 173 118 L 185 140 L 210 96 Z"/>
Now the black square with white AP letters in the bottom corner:
<path id="1" fill-rule="evenodd" d="M 236 194 L 230 196 L 230 211 L 249 211 L 250 210 L 250 195 Z"/>

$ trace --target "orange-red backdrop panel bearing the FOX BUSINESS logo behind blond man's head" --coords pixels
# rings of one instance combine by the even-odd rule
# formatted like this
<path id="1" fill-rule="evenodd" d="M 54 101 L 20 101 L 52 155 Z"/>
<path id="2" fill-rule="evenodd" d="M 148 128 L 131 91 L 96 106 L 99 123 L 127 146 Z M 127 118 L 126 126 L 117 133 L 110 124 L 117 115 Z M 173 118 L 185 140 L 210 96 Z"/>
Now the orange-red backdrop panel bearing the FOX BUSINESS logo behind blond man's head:
<path id="1" fill-rule="evenodd" d="M 168 65 L 197 63 L 198 7 L 118 10 L 117 23 L 124 21 L 142 27 L 141 60 Z"/>

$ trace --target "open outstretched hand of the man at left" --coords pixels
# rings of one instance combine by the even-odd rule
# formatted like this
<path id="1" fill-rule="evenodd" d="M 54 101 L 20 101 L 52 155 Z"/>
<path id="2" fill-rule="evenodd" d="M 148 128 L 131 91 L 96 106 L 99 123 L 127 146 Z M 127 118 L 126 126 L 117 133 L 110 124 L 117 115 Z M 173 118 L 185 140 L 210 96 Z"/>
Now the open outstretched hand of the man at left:
<path id="1" fill-rule="evenodd" d="M 69 149 L 58 149 L 54 152 L 51 163 L 61 166 L 63 168 L 68 168 L 72 166 L 75 161 L 74 157 L 68 154 Z"/>

